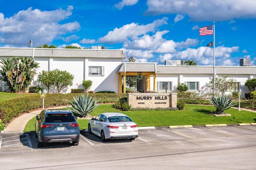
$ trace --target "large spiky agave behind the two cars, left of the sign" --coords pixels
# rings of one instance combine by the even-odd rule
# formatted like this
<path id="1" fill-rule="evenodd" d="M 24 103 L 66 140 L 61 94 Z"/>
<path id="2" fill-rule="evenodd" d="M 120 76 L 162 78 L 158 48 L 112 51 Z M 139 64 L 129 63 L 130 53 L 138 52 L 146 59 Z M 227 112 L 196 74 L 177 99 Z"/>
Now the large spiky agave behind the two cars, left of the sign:
<path id="1" fill-rule="evenodd" d="M 89 117 L 90 113 L 99 106 L 97 100 L 93 100 L 92 97 L 89 98 L 89 94 L 87 94 L 87 96 L 81 94 L 73 97 L 72 101 L 73 102 L 69 101 L 72 107 L 68 108 L 78 117 Z"/>

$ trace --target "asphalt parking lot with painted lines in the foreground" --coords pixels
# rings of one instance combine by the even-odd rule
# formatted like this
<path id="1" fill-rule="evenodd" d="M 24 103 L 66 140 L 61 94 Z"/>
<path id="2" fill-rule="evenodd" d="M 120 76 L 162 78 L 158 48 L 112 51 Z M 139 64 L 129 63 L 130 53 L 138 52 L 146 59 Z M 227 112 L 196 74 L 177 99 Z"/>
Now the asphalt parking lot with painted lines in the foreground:
<path id="1" fill-rule="evenodd" d="M 1 169 L 255 169 L 256 126 L 139 129 L 134 141 L 102 142 L 81 131 L 80 143 L 38 148 L 34 132 L 0 133 Z"/>

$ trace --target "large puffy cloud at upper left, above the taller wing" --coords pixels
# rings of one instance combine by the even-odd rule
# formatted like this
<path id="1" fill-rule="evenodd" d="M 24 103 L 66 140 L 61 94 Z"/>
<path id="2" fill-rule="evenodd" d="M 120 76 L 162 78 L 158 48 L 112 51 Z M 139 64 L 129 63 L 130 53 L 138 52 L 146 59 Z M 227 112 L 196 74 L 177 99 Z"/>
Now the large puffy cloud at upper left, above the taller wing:
<path id="1" fill-rule="evenodd" d="M 26 44 L 30 39 L 33 46 L 42 46 L 44 43 L 51 43 L 56 37 L 80 29 L 77 21 L 60 24 L 72 15 L 73 6 L 66 10 L 59 8 L 52 11 L 22 10 L 10 18 L 4 18 L 0 13 L 0 39 L 10 42 Z M 25 42 L 24 42 L 25 41 Z"/>

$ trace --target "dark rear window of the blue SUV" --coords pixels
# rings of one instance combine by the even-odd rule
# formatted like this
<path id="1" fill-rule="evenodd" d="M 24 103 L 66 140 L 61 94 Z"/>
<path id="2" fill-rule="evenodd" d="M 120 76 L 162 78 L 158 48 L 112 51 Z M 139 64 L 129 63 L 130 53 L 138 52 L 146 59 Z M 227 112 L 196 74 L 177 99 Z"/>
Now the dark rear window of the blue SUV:
<path id="1" fill-rule="evenodd" d="M 54 122 L 73 122 L 75 118 L 70 113 L 65 114 L 47 114 L 45 122 L 54 123 Z"/>

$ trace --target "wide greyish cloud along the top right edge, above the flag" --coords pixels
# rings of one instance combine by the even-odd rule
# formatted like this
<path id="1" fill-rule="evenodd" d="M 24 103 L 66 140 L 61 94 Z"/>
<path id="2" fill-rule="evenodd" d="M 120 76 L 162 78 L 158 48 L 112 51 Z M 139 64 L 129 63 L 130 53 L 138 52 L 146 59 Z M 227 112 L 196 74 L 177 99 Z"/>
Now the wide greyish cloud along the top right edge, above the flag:
<path id="1" fill-rule="evenodd" d="M 255 0 L 148 0 L 146 15 L 185 14 L 192 21 L 256 18 Z"/>

